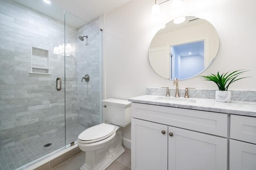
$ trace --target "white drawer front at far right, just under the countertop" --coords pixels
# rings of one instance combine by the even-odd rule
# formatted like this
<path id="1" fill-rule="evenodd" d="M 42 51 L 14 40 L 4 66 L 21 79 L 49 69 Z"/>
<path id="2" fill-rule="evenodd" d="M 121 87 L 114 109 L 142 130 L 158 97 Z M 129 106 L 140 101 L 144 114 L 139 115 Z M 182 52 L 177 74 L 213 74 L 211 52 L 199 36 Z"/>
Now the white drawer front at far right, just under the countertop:
<path id="1" fill-rule="evenodd" d="M 256 117 L 231 115 L 230 138 L 256 144 Z"/>

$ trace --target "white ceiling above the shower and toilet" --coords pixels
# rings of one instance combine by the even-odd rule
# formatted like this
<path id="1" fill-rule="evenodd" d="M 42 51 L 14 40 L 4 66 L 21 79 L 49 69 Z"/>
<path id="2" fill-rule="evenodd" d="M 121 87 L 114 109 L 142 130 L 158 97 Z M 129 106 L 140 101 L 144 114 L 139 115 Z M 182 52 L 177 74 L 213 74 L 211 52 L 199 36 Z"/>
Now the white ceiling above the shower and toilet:
<path id="1" fill-rule="evenodd" d="M 46 4 L 43 0 L 13 1 L 63 22 L 63 9 L 65 9 L 68 11 L 66 12 L 66 23 L 78 28 L 130 0 L 50 0 L 51 4 Z"/>

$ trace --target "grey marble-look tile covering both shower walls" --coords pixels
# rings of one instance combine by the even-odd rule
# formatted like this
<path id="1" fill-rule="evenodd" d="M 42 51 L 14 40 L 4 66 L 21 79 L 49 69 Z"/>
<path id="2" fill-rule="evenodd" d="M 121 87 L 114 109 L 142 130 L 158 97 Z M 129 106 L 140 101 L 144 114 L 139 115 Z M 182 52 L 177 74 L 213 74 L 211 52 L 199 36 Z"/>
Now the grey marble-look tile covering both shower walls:
<path id="1" fill-rule="evenodd" d="M 101 35 L 95 25 L 99 25 L 98 18 L 78 29 L 64 27 L 63 21 L 12 0 L 1 1 L 0 145 L 64 127 L 65 111 L 66 124 L 91 127 L 101 123 Z M 89 45 L 79 35 L 88 35 Z M 65 58 L 53 54 L 54 47 L 64 43 L 64 36 L 76 50 Z M 51 75 L 28 74 L 31 46 L 49 49 Z M 81 82 L 85 74 L 90 75 L 88 83 Z M 61 91 L 55 89 L 57 77 L 62 78 Z"/>

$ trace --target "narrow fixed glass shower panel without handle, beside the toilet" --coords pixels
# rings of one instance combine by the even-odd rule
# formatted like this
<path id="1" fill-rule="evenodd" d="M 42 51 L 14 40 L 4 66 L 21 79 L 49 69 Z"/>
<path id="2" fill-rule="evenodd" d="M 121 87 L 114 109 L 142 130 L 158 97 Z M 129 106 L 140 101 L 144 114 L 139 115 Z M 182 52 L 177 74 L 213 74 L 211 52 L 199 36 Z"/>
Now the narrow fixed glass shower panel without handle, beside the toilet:
<path id="1" fill-rule="evenodd" d="M 66 147 L 69 147 L 70 143 L 76 143 L 82 131 L 102 123 L 102 30 L 99 18 L 88 23 L 66 11 L 65 42 Z"/>

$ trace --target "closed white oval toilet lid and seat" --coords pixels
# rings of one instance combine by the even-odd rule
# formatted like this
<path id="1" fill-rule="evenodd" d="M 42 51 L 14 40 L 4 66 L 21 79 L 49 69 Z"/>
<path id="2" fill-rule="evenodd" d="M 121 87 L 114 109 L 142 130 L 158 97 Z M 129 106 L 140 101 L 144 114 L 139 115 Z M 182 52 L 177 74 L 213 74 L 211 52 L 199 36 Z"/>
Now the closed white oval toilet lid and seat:
<path id="1" fill-rule="evenodd" d="M 115 127 L 106 123 L 90 127 L 78 135 L 82 143 L 93 143 L 110 137 Z"/>

